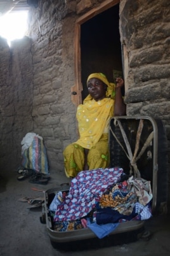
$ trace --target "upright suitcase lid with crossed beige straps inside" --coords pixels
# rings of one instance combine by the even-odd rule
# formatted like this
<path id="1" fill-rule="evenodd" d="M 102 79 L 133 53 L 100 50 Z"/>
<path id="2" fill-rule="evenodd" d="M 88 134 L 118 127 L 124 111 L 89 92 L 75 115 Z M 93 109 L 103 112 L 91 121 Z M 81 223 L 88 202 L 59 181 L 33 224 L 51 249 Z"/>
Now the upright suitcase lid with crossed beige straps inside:
<path id="1" fill-rule="evenodd" d="M 110 167 L 151 182 L 152 211 L 157 204 L 157 123 L 147 116 L 113 117 L 109 127 Z"/>

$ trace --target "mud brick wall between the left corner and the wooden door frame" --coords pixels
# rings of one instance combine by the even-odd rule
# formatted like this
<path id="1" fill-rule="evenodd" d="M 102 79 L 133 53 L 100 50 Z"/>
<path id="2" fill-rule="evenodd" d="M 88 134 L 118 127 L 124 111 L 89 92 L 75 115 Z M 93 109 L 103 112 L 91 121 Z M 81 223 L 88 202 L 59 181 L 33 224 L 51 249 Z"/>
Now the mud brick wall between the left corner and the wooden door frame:
<path id="1" fill-rule="evenodd" d="M 50 168 L 61 173 L 63 148 L 77 138 L 75 106 L 70 97 L 75 17 L 65 18 L 67 11 L 65 1 L 41 1 L 30 13 L 34 132 L 44 138 Z"/>

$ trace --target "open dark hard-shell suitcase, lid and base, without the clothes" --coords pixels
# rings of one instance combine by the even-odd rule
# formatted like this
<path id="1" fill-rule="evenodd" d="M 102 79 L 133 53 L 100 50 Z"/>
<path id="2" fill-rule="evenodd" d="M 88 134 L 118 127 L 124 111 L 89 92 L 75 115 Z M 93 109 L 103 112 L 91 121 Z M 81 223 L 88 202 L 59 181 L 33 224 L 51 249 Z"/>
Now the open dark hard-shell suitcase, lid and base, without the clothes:
<path id="1" fill-rule="evenodd" d="M 167 143 L 162 122 L 151 117 L 114 117 L 110 120 L 109 148 L 110 167 L 122 167 L 124 173 L 133 175 L 139 171 L 141 178 L 151 181 L 152 215 L 166 213 Z M 55 248 L 72 250 L 120 245 L 147 234 L 144 220 L 120 223 L 102 239 L 97 238 L 89 228 L 55 231 L 49 205 L 56 193 L 68 192 L 69 189 L 69 185 L 63 185 L 46 190 L 44 194 L 41 222 L 46 223 L 49 239 Z"/>

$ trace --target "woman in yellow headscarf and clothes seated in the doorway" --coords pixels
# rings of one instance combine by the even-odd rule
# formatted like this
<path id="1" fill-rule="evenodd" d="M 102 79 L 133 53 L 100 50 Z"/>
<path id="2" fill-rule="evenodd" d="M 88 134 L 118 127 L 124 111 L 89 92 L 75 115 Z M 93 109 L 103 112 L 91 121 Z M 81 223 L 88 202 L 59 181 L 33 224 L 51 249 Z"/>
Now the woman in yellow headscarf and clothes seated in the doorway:
<path id="1" fill-rule="evenodd" d="M 103 73 L 93 73 L 89 75 L 87 85 L 89 95 L 78 106 L 76 115 L 80 138 L 63 152 L 65 174 L 70 178 L 82 170 L 108 167 L 110 118 L 126 114 L 121 93 L 122 78 L 117 78 L 114 85 Z"/>

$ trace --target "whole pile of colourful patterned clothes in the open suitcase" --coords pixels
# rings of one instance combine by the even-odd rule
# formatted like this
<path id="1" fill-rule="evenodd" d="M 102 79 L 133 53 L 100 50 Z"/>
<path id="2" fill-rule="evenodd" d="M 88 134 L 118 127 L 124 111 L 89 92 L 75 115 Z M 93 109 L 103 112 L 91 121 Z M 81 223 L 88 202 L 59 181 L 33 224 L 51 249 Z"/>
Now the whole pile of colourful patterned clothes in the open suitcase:
<path id="1" fill-rule="evenodd" d="M 68 193 L 56 193 L 49 211 L 55 231 L 89 228 L 103 238 L 121 222 L 150 218 L 151 202 L 150 181 L 128 176 L 122 168 L 100 168 L 81 171 Z"/>

